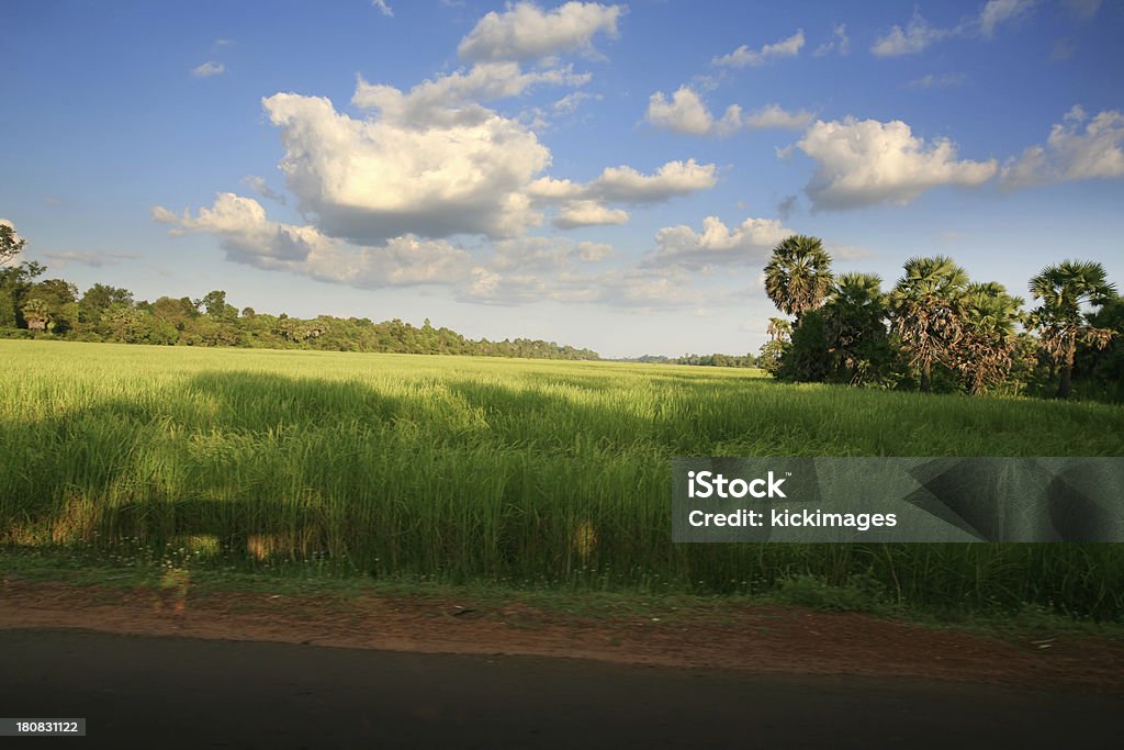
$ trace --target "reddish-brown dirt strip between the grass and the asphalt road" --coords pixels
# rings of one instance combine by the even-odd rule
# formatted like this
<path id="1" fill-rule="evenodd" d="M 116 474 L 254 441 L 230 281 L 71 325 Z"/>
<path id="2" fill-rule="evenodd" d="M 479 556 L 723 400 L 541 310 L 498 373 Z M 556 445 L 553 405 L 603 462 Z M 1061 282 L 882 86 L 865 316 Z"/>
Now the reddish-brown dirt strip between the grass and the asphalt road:
<path id="1" fill-rule="evenodd" d="M 569 615 L 435 597 L 118 589 L 0 581 L 0 629 L 502 653 L 803 675 L 925 677 L 1124 694 L 1124 640 L 999 640 L 856 613 L 694 607 L 665 617 Z"/>

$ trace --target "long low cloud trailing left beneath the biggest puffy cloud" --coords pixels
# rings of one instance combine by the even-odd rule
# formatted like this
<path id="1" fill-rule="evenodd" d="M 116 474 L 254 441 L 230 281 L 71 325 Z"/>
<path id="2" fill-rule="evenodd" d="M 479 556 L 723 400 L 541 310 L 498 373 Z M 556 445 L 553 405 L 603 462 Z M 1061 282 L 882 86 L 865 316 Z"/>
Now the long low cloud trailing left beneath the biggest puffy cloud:
<path id="1" fill-rule="evenodd" d="M 452 283 L 469 265 L 468 253 L 446 241 L 405 235 L 379 246 L 356 247 L 312 226 L 272 222 L 256 200 L 230 192 L 219 193 L 210 208 L 200 208 L 194 216 L 189 211 L 176 216 L 162 206 L 153 207 L 152 215 L 170 225 L 173 235 L 215 235 L 232 261 L 365 289 Z"/>

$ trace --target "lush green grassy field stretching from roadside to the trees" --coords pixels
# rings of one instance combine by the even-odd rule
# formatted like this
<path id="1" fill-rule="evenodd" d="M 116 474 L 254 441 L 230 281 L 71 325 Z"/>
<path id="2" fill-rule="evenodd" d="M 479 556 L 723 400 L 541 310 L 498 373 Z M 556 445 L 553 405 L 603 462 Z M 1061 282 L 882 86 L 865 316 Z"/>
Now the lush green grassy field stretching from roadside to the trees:
<path id="1" fill-rule="evenodd" d="M 1122 435 L 1121 407 L 735 369 L 0 341 L 0 543 L 1120 620 L 1108 544 L 673 545 L 670 459 L 1120 455 Z"/>

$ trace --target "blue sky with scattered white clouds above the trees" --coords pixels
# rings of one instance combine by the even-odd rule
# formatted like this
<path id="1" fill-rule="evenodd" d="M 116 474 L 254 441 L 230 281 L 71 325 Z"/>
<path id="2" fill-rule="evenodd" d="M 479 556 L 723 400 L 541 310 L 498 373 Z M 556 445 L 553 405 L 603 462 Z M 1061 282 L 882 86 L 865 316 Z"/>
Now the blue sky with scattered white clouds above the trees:
<path id="1" fill-rule="evenodd" d="M 0 217 L 138 299 L 755 352 L 790 233 L 1124 286 L 1124 3 L 9 1 Z"/>

